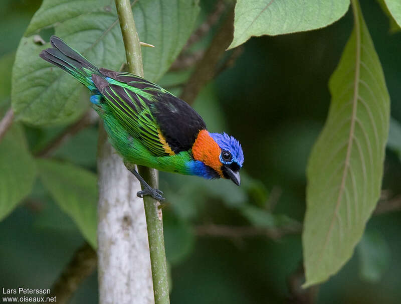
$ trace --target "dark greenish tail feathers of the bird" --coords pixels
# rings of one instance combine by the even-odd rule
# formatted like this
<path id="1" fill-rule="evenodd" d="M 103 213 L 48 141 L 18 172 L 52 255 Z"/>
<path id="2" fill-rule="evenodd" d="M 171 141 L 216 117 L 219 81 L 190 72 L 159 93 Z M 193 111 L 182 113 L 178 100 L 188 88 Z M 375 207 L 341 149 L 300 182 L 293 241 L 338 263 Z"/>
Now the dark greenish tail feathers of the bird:
<path id="1" fill-rule="evenodd" d="M 96 90 L 92 74 L 101 75 L 99 69 L 60 38 L 52 36 L 50 43 L 54 48 L 43 50 L 39 56 L 70 73 L 90 90 Z"/>

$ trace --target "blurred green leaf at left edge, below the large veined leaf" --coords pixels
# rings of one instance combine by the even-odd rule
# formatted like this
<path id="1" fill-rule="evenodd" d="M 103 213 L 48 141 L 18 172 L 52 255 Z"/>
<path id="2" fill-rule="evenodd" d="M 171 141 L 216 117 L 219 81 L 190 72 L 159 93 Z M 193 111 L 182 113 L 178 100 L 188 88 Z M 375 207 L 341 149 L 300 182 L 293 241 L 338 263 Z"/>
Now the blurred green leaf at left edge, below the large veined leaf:
<path id="1" fill-rule="evenodd" d="M 14 123 L 0 141 L 0 220 L 32 191 L 35 178 L 24 131 Z"/>

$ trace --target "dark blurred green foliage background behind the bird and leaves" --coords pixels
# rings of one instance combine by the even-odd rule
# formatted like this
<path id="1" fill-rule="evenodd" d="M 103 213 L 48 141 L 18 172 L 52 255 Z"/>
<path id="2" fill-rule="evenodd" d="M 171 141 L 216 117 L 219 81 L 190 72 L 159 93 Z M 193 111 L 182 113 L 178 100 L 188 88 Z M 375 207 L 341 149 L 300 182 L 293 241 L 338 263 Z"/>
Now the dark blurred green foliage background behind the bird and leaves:
<path id="1" fill-rule="evenodd" d="M 200 2 L 199 23 L 214 3 Z M 39 0 L 0 4 L 0 93 L 10 90 L 13 54 L 40 4 Z M 389 32 L 388 17 L 376 1 L 360 4 L 384 71 L 391 116 L 401 121 L 401 32 Z M 287 280 L 302 265 L 300 234 L 279 239 L 215 237 L 202 235 L 200 228 L 208 224 L 258 227 L 258 217 L 268 218 L 268 211 L 275 215 L 269 218 L 273 228 L 302 222 L 308 154 L 327 115 L 328 79 L 351 30 L 348 12 L 321 30 L 252 38 L 235 65 L 196 99 L 194 108 L 211 131 L 225 130 L 240 140 L 245 181 L 235 188 L 227 181 L 160 174 L 160 188 L 169 203 L 163 212 L 172 303 L 291 302 Z M 212 35 L 213 31 L 195 48 L 206 47 Z M 187 75 L 169 72 L 160 84 L 173 87 Z M 2 115 L 9 102 L 7 93 L 0 94 Z M 38 149 L 63 127 L 26 126 L 31 149 Z M 96 172 L 96 142 L 95 125 L 62 145 L 54 157 Z M 401 163 L 388 149 L 384 170 L 383 189 L 401 193 Z M 360 245 L 341 271 L 320 286 L 317 302 L 399 303 L 399 231 L 401 212 L 374 215 L 366 228 L 365 246 Z M 30 197 L 0 222 L 0 286 L 50 288 L 83 242 L 74 222 L 37 181 Z M 375 251 L 378 246 L 384 253 Z M 378 271 L 366 262 L 369 255 L 379 260 Z M 93 273 L 71 303 L 96 302 L 97 274 Z"/>

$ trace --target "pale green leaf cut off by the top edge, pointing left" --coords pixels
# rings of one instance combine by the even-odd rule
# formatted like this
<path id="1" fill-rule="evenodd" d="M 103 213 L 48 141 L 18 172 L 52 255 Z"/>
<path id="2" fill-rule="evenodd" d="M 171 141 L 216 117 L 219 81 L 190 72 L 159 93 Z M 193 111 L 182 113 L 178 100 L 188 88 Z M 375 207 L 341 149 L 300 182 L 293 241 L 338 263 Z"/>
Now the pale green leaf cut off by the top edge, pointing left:
<path id="1" fill-rule="evenodd" d="M 238 0 L 229 49 L 251 36 L 280 35 L 323 28 L 340 19 L 349 0 Z"/>

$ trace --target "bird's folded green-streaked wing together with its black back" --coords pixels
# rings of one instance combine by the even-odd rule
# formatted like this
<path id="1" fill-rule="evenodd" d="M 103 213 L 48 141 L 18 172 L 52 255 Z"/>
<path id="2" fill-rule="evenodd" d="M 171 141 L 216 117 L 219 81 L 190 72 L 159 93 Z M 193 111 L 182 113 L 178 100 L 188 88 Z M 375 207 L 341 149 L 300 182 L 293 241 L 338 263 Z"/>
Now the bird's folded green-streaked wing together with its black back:
<path id="1" fill-rule="evenodd" d="M 100 69 L 92 80 L 129 133 L 155 156 L 192 148 L 205 121 L 186 102 L 157 84 L 127 72 Z"/>

